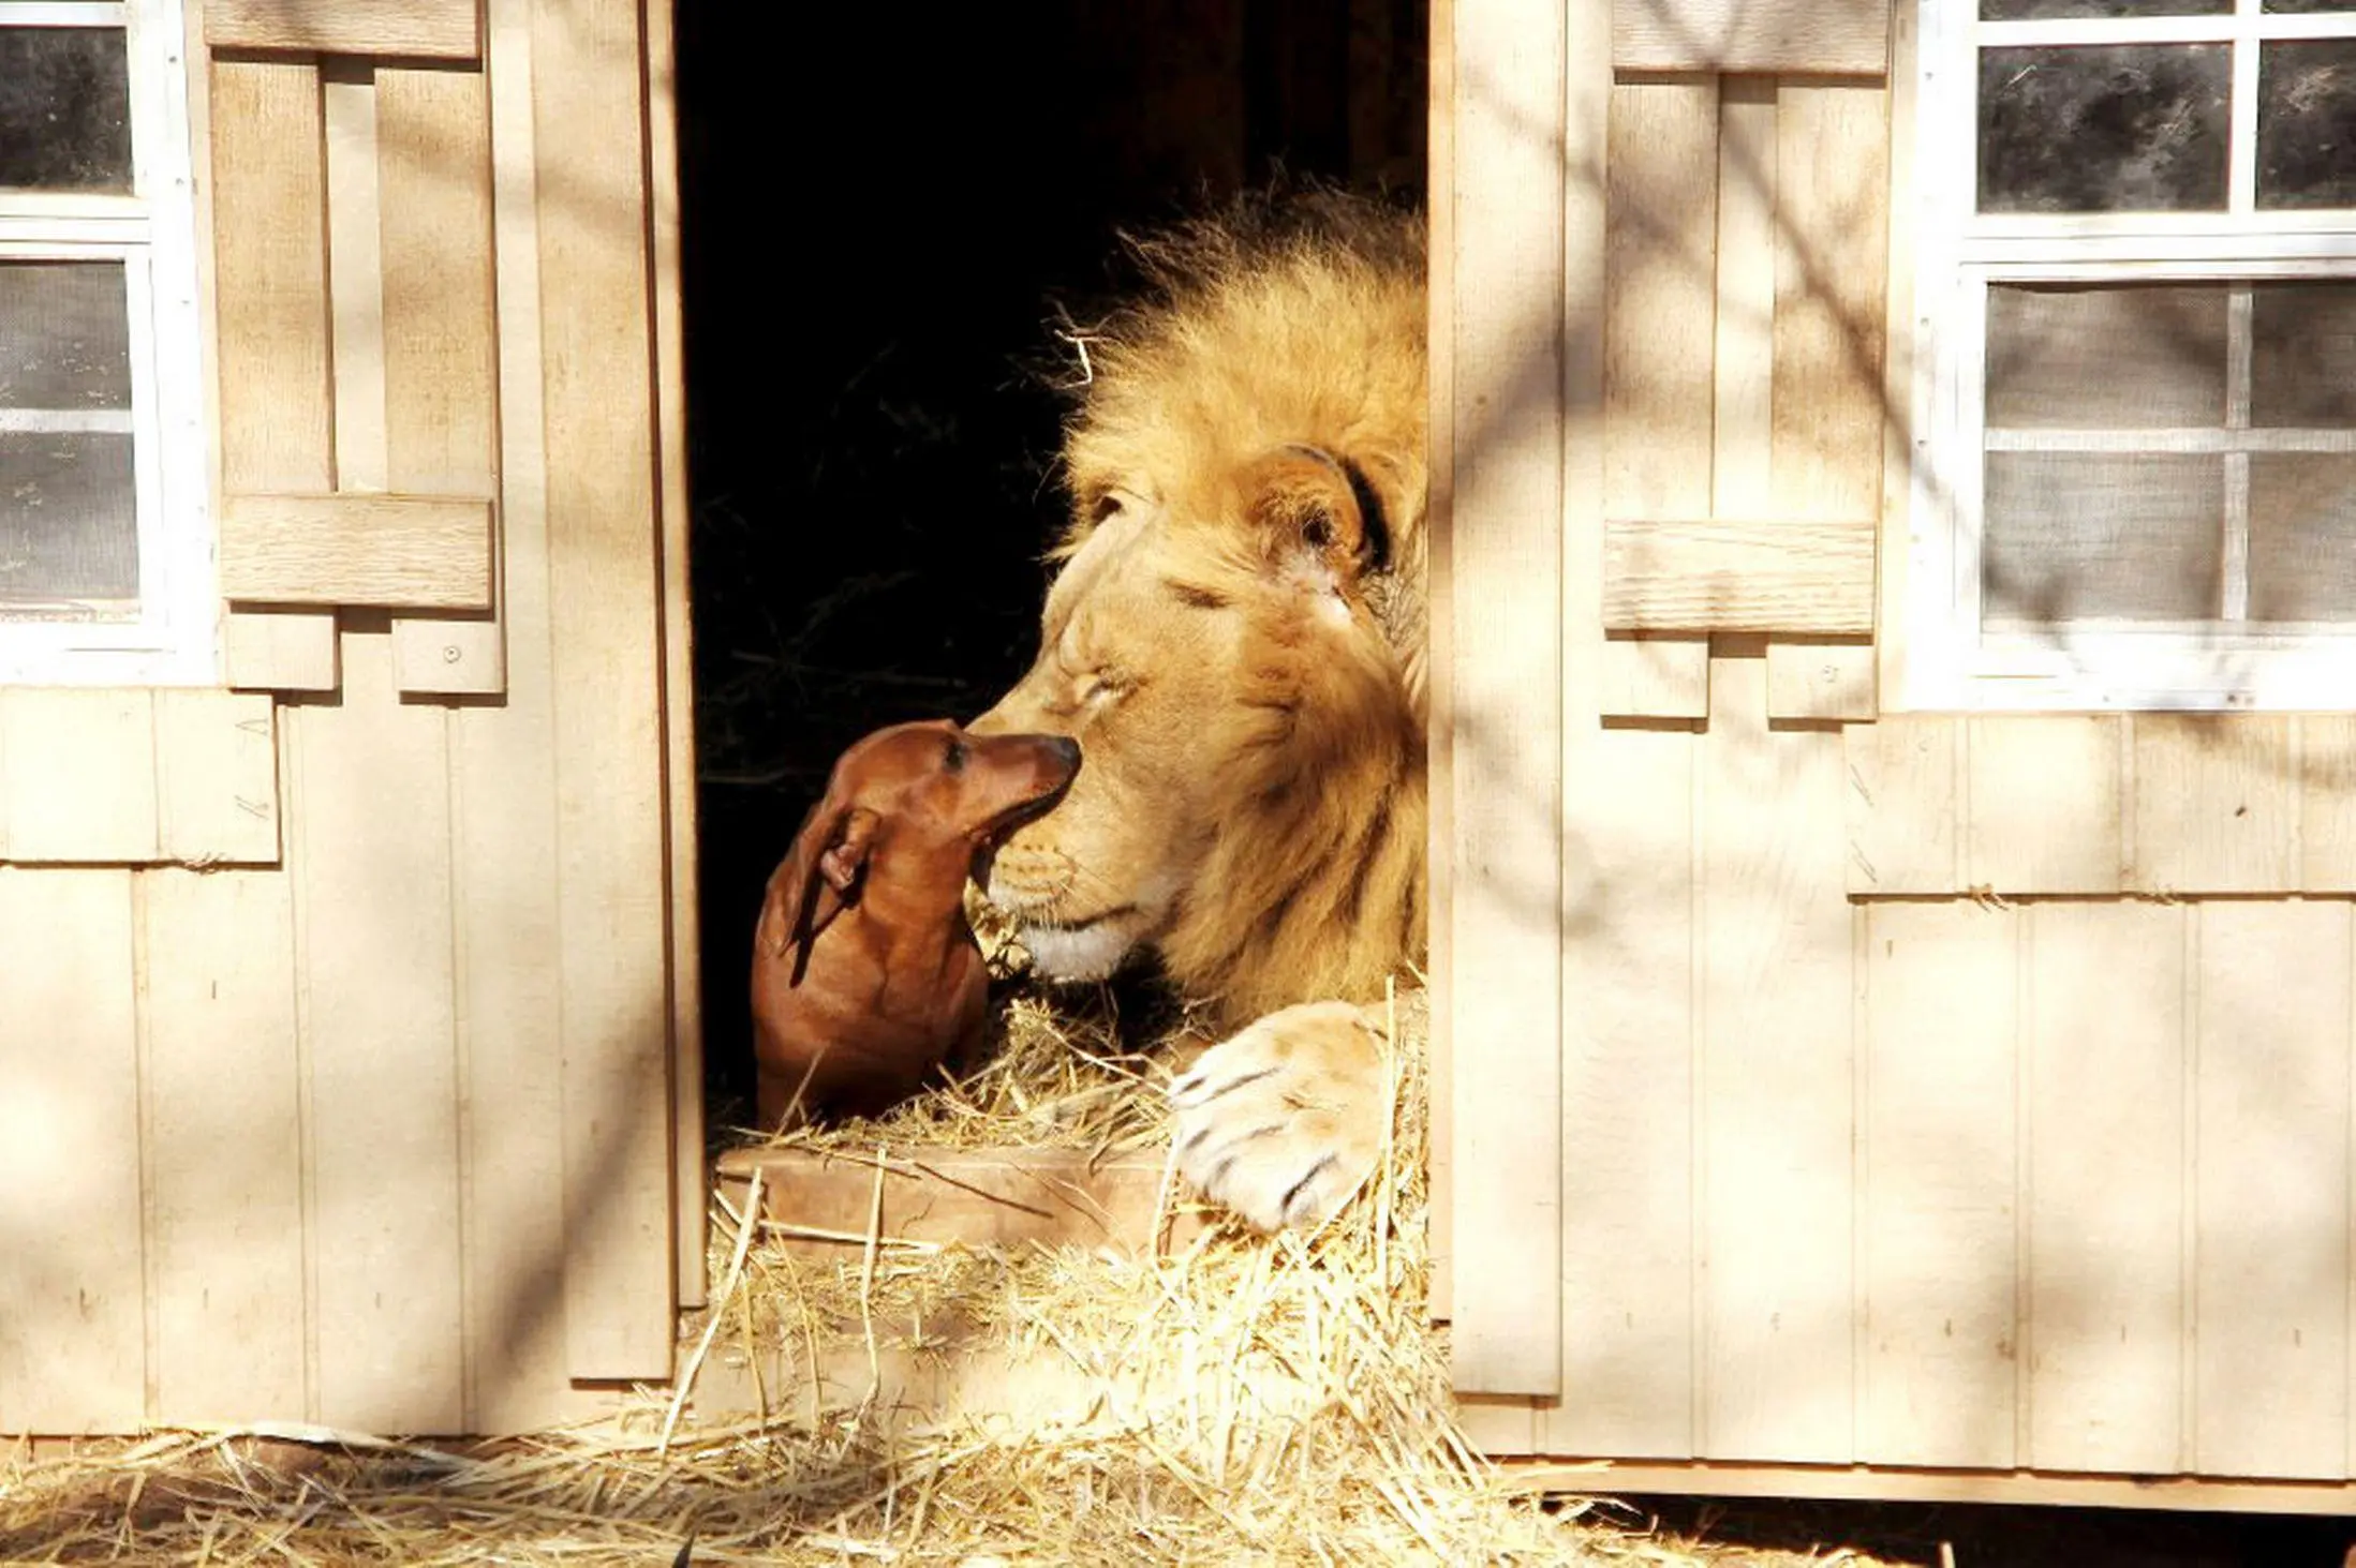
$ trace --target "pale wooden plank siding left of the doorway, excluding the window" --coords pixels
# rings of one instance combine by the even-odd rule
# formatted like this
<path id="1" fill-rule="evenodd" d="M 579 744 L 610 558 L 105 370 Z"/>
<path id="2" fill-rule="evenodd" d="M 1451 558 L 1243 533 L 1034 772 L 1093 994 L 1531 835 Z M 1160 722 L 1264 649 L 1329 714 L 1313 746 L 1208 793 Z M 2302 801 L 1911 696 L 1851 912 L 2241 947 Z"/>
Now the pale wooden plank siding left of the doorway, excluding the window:
<path id="1" fill-rule="evenodd" d="M 591 12 L 490 0 L 483 68 L 198 71 L 226 492 L 462 499 L 497 619 L 342 589 L 229 617 L 276 702 L 0 690 L 0 1431 L 516 1431 L 671 1370 L 676 280 L 610 134 L 667 99 Z"/>

